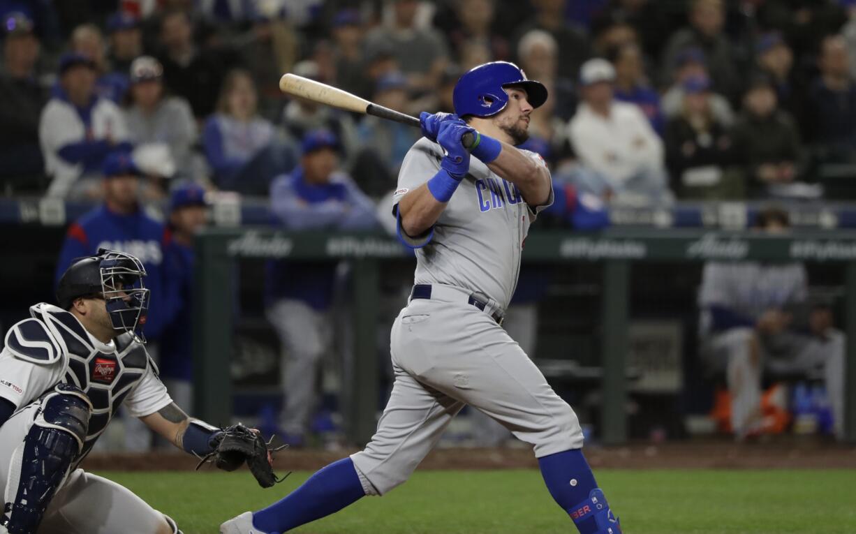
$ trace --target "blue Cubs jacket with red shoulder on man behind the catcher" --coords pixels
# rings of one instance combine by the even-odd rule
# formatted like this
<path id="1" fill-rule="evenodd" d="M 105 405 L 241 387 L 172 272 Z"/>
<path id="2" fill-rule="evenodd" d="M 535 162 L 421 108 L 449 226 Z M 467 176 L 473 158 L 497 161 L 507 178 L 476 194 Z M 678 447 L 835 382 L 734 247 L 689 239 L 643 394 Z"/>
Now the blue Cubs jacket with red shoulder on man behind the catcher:
<path id="1" fill-rule="evenodd" d="M 163 288 L 163 249 L 169 243 L 169 232 L 138 209 L 130 215 L 113 213 L 101 205 L 80 217 L 68 227 L 59 260 L 56 263 L 55 283 L 72 264 L 74 258 L 90 256 L 98 248 L 128 252 L 140 258 L 146 267 L 146 288 L 151 289 L 146 337 L 157 339 L 164 323 L 169 321 L 169 295 Z"/>

